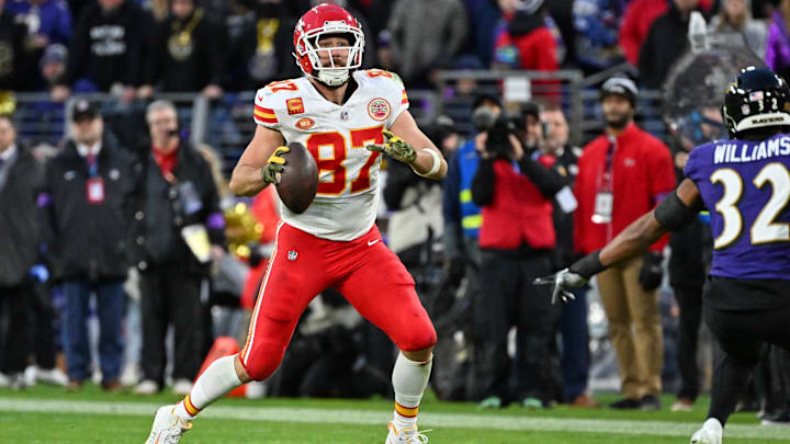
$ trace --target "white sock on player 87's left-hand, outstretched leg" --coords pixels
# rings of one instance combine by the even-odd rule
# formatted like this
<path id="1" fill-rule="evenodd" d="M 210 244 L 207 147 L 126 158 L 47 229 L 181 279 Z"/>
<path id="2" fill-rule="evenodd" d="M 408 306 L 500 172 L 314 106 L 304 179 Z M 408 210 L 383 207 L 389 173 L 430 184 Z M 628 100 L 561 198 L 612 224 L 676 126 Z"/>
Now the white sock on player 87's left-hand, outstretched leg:
<path id="1" fill-rule="evenodd" d="M 176 406 L 176 414 L 183 421 L 192 421 L 206 406 L 241 385 L 236 375 L 234 358 L 224 356 L 212 363 L 198 378 L 192 391 Z"/>

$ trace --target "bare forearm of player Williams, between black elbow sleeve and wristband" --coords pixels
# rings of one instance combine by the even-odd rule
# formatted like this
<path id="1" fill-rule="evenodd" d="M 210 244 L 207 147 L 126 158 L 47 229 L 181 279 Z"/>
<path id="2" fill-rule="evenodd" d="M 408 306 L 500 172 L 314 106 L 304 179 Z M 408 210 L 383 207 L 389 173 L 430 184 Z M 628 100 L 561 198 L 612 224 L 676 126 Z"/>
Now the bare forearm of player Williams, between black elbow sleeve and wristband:
<path id="1" fill-rule="evenodd" d="M 653 212 L 650 212 L 629 225 L 603 247 L 600 252 L 600 262 L 605 266 L 610 266 L 643 254 L 666 232 L 666 228 L 658 224 Z"/>

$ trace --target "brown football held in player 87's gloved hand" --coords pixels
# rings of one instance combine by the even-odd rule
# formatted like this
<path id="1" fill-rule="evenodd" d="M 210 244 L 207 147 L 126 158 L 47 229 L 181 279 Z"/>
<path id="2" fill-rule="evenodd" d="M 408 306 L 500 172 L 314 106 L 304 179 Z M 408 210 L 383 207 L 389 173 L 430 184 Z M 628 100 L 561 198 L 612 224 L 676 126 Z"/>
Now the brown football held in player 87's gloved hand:
<path id="1" fill-rule="evenodd" d="M 304 213 L 315 198 L 318 190 L 318 168 L 315 159 L 298 141 L 289 144 L 291 151 L 281 156 L 285 159 L 280 183 L 276 184 L 280 200 L 293 213 Z"/>

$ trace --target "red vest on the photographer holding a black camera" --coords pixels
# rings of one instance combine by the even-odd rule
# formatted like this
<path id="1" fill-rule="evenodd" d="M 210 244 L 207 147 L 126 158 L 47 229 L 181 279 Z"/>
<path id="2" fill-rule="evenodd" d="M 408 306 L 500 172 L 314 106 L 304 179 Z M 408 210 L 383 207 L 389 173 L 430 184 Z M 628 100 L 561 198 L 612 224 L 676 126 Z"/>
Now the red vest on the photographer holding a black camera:
<path id="1" fill-rule="evenodd" d="M 514 250 L 526 242 L 534 250 L 554 248 L 551 201 L 506 160 L 494 161 L 494 196 L 483 207 L 479 246 Z"/>

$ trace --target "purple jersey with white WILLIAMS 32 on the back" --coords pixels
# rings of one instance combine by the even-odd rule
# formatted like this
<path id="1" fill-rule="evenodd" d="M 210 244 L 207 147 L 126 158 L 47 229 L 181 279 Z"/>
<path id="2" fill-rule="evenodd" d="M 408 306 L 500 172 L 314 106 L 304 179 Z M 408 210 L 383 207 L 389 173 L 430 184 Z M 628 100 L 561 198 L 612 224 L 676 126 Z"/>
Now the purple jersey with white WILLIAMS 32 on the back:
<path id="1" fill-rule="evenodd" d="M 695 148 L 686 177 L 710 210 L 710 274 L 790 278 L 790 135 Z"/>

